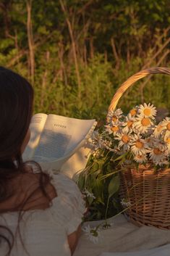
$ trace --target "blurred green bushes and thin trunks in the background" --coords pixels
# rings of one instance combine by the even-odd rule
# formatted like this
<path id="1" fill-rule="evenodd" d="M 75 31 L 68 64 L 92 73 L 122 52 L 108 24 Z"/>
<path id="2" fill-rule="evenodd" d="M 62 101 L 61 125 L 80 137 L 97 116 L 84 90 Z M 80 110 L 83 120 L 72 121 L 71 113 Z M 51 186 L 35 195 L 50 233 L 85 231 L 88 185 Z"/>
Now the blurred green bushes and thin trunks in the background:
<path id="1" fill-rule="evenodd" d="M 169 67 L 169 13 L 170 0 L 1 0 L 0 65 L 33 84 L 35 112 L 104 120 L 130 75 Z M 169 82 L 141 80 L 119 107 L 170 110 Z"/>

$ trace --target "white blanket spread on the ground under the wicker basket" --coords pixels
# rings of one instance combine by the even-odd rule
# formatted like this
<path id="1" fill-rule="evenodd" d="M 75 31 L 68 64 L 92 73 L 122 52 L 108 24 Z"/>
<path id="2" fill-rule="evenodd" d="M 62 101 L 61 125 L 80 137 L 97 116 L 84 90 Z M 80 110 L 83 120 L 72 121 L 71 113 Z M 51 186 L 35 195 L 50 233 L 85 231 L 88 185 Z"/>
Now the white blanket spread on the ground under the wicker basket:
<path id="1" fill-rule="evenodd" d="M 85 223 L 85 225 L 90 224 L 93 227 L 98 223 L 100 222 L 94 221 Z M 98 244 L 93 244 L 82 231 L 74 256 L 170 255 L 170 230 L 151 226 L 138 227 L 130 223 L 124 215 L 109 219 L 109 223 L 112 224 L 111 228 L 101 231 L 101 239 Z M 148 251 L 148 249 L 153 250 Z M 167 254 L 168 251 L 169 254 Z"/>

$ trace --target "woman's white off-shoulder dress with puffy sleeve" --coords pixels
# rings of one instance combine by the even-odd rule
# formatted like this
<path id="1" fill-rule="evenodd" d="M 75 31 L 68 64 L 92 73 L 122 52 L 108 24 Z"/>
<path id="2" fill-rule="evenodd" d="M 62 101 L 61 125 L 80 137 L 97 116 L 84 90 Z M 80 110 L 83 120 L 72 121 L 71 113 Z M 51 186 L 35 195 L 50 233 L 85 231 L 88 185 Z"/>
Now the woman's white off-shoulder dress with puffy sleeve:
<path id="1" fill-rule="evenodd" d="M 46 210 L 29 210 L 20 222 L 20 231 L 25 249 L 30 256 L 70 256 L 67 236 L 77 230 L 85 212 L 85 202 L 74 181 L 62 174 L 48 171 L 57 193 Z M 16 231 L 18 212 L 0 215 L 0 225 Z M 7 253 L 7 243 L 1 240 L 0 256 Z M 20 235 L 15 235 L 15 244 L 10 256 L 26 256 Z"/>

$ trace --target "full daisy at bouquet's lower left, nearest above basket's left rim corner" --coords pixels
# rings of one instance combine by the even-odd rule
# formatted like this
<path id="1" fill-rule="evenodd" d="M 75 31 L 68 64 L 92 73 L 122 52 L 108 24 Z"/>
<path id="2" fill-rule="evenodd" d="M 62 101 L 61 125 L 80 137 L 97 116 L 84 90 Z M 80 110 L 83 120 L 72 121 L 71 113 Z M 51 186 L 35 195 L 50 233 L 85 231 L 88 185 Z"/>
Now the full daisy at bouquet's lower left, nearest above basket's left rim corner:
<path id="1" fill-rule="evenodd" d="M 115 138 L 119 141 L 118 147 L 122 147 L 123 150 L 126 152 L 130 148 L 130 141 L 132 139 L 132 135 L 130 133 L 127 133 L 124 131 L 124 128 L 122 129 L 121 133 L 116 134 Z"/>

